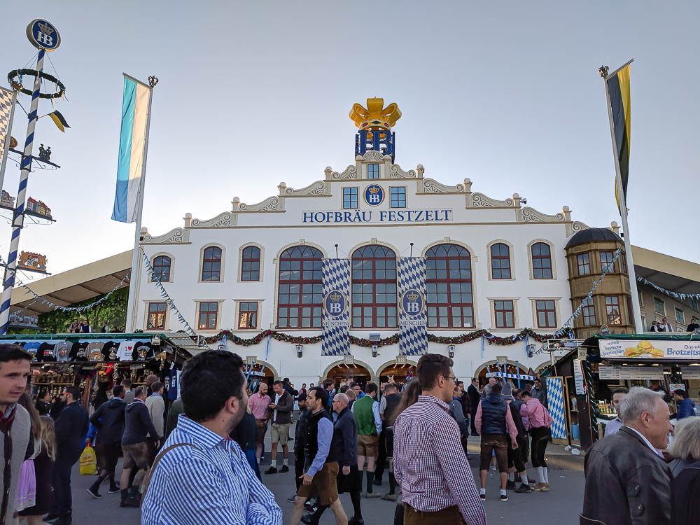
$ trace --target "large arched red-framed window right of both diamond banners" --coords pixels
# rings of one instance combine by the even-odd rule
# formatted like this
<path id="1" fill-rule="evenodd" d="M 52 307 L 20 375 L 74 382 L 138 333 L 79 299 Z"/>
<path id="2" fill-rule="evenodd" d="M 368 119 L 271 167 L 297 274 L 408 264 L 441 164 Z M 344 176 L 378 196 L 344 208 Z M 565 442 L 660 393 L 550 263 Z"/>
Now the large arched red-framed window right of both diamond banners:
<path id="1" fill-rule="evenodd" d="M 426 253 L 426 264 L 428 327 L 473 327 L 472 261 L 469 252 L 456 244 L 439 244 Z"/>

